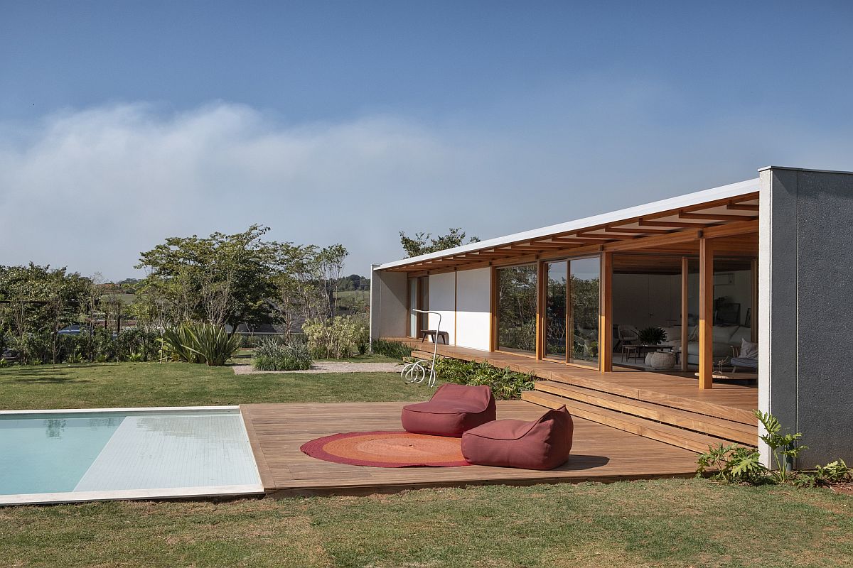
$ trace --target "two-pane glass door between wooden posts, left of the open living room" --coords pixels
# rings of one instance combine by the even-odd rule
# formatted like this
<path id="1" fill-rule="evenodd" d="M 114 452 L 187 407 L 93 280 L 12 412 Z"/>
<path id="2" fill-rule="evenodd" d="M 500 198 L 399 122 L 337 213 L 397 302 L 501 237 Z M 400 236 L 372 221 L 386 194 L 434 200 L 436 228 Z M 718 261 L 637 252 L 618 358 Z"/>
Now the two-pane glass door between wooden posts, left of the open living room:
<path id="1" fill-rule="evenodd" d="M 601 261 L 546 262 L 544 272 L 544 356 L 597 368 Z"/>

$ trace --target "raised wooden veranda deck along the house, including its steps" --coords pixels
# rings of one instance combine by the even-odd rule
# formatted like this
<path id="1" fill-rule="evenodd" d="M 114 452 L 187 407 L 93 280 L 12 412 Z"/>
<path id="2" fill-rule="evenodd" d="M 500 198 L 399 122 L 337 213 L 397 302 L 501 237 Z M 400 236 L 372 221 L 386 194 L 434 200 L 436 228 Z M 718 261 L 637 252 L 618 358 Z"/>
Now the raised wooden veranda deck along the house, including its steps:
<path id="1" fill-rule="evenodd" d="M 434 344 L 403 339 L 416 357 L 432 357 Z M 572 416 L 628 433 L 703 452 L 709 446 L 758 444 L 758 389 L 745 382 L 715 381 L 699 389 L 693 373 L 650 372 L 617 366 L 611 372 L 586 369 L 515 353 L 486 352 L 438 344 L 454 359 L 493 364 L 537 376 L 525 401 L 548 408 L 565 405 Z M 748 376 L 748 375 L 745 375 Z"/>

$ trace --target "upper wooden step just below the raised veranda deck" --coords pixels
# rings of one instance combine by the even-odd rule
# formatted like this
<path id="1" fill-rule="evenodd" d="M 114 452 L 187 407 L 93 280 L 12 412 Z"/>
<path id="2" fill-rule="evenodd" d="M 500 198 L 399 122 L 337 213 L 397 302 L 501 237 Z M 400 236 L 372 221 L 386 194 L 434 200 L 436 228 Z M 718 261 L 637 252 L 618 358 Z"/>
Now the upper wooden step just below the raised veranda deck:
<path id="1" fill-rule="evenodd" d="M 689 410 L 630 399 L 618 394 L 604 393 L 562 382 L 537 381 L 536 390 L 556 394 L 565 399 L 616 410 L 624 414 L 639 416 L 647 420 L 664 422 L 731 442 L 745 445 L 757 444 L 758 431 L 756 427 L 724 418 L 705 416 Z"/>

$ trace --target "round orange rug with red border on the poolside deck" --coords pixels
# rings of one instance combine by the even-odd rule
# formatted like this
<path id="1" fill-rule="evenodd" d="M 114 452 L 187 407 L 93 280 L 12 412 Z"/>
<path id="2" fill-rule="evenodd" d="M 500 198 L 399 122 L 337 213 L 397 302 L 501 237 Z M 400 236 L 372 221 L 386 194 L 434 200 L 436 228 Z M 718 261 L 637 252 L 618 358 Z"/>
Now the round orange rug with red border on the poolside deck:
<path id="1" fill-rule="evenodd" d="M 408 432 L 350 432 L 312 439 L 300 450 L 326 462 L 373 468 L 458 468 L 461 439 Z"/>

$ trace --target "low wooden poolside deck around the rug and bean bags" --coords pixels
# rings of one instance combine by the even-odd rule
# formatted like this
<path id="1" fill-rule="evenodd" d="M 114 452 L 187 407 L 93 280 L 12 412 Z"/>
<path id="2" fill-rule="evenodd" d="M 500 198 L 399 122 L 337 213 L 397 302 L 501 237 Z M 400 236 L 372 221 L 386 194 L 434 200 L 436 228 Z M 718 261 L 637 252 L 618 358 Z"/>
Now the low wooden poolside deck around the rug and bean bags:
<path id="1" fill-rule="evenodd" d="M 690 477 L 696 454 L 653 439 L 575 418 L 572 457 L 561 468 L 367 468 L 323 462 L 299 446 L 334 433 L 402 430 L 406 403 L 244 404 L 241 405 L 264 491 L 270 496 L 358 495 L 423 487 L 531 485 Z M 533 420 L 542 406 L 500 401 L 497 417 Z"/>

